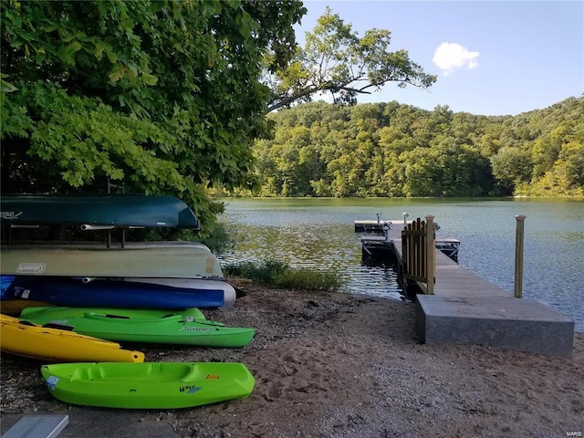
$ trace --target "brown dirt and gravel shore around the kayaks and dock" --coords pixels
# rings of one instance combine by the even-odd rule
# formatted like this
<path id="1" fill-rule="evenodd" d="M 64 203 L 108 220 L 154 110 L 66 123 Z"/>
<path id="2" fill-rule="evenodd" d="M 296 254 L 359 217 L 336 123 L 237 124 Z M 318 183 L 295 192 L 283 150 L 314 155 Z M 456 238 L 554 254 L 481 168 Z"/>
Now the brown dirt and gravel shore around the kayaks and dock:
<path id="1" fill-rule="evenodd" d="M 59 438 L 565 437 L 584 433 L 584 335 L 571 360 L 482 346 L 425 345 L 407 301 L 245 287 L 235 308 L 204 312 L 255 327 L 242 349 L 139 346 L 150 361 L 241 361 L 243 401 L 175 411 L 71 406 L 42 362 L 2 355 L 1 432 L 26 414 L 67 414 Z M 136 348 L 137 346 L 132 346 Z M 93 429 L 93 430 L 92 430 Z"/>

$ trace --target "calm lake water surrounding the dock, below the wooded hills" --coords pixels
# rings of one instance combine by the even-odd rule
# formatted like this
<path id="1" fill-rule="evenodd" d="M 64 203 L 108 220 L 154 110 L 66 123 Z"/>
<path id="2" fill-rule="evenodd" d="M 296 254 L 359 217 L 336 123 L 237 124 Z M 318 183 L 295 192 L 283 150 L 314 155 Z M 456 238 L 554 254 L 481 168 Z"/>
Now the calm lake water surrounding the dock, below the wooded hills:
<path id="1" fill-rule="evenodd" d="M 281 260 L 335 269 L 349 292 L 401 298 L 392 266 L 367 266 L 354 221 L 422 219 L 461 241 L 458 262 L 513 294 L 517 214 L 525 220 L 523 296 L 574 318 L 584 332 L 584 202 L 558 199 L 226 199 L 220 221 L 235 247 L 223 264 Z"/>

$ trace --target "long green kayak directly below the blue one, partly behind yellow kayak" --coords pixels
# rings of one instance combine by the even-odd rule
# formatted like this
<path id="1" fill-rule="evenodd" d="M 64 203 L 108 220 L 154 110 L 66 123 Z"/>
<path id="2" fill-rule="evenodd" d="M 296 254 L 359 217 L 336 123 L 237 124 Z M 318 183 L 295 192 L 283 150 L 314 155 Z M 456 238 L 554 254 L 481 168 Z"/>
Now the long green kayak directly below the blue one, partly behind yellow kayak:
<path id="1" fill-rule="evenodd" d="M 237 348 L 247 345 L 255 328 L 225 327 L 206 319 L 189 320 L 182 315 L 167 314 L 162 318 L 128 318 L 115 314 L 86 312 L 81 316 L 30 308 L 21 313 L 21 321 L 52 328 L 70 328 L 75 332 L 117 342 L 191 345 L 194 347 Z"/>

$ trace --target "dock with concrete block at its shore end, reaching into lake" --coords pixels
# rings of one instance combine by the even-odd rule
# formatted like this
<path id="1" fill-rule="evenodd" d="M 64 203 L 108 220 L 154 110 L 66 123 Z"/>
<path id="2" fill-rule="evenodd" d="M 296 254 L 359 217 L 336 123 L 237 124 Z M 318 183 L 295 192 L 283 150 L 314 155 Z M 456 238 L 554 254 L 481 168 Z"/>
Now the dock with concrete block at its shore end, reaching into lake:
<path id="1" fill-rule="evenodd" d="M 363 254 L 375 251 L 380 255 L 385 251 L 400 266 L 401 230 L 407 223 L 404 220 L 379 222 L 384 234 L 361 236 Z M 372 225 L 370 229 L 378 226 Z M 516 298 L 474 275 L 458 265 L 454 257 L 445 254 L 449 245 L 452 245 L 451 249 L 455 246 L 457 257 L 460 245 L 457 239 L 436 239 L 433 295 L 426 295 L 426 285 L 416 282 L 421 292 L 415 298 L 416 329 L 422 342 L 481 344 L 572 357 L 572 318 L 536 299 Z"/>

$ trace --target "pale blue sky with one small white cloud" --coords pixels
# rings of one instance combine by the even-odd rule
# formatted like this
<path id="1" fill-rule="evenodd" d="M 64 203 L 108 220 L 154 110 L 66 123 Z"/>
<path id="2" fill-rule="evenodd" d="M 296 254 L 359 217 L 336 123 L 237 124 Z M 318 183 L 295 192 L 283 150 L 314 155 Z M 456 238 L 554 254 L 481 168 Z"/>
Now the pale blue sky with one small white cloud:
<path id="1" fill-rule="evenodd" d="M 305 0 L 298 43 L 326 6 L 358 36 L 391 31 L 391 51 L 405 49 L 438 79 L 428 89 L 394 83 L 359 103 L 388 102 L 476 115 L 516 115 L 584 93 L 584 1 Z"/>

